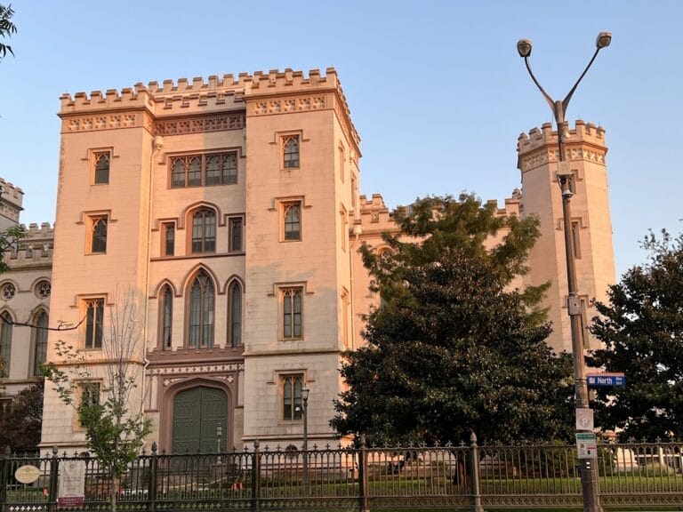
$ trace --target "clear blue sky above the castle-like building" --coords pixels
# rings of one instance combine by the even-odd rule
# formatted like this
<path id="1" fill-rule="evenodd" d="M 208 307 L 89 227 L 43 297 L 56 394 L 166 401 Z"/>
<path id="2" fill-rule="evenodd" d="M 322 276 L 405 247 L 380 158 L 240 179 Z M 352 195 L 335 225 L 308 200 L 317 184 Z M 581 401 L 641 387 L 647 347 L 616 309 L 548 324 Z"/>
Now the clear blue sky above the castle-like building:
<path id="1" fill-rule="evenodd" d="M 0 0 L 6 4 L 6 0 Z M 550 122 L 516 43 L 562 99 L 601 30 L 613 33 L 567 118 L 607 130 L 618 274 L 648 228 L 681 223 L 683 2 L 14 0 L 15 57 L 0 62 L 0 176 L 24 223 L 54 220 L 63 92 L 269 69 L 337 69 L 362 139 L 361 193 L 387 204 L 520 185 L 520 132 Z"/>

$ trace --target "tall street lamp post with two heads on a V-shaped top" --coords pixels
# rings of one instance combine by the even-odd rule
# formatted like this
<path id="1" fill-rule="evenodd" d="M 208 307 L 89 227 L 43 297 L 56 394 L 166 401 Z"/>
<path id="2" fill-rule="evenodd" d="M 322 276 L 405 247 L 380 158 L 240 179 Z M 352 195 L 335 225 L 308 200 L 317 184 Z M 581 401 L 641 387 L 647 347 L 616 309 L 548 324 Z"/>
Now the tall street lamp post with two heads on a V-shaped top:
<path id="1" fill-rule="evenodd" d="M 576 83 L 566 95 L 566 98 L 561 101 L 554 101 L 550 95 L 545 92 L 536 80 L 534 73 L 529 66 L 529 55 L 531 55 L 531 41 L 528 39 L 521 39 L 517 44 L 517 51 L 519 56 L 524 58 L 526 70 L 529 76 L 534 81 L 536 87 L 541 91 L 543 98 L 550 105 L 552 114 L 555 117 L 555 124 L 558 127 L 558 185 L 562 193 L 562 215 L 564 216 L 563 227 L 565 230 L 565 255 L 566 255 L 566 280 L 567 280 L 567 311 L 569 313 L 569 323 L 572 333 L 572 354 L 574 356 L 574 385 L 575 385 L 575 404 L 576 409 L 588 409 L 588 384 L 586 382 L 586 369 L 583 363 L 583 330 L 581 328 L 581 299 L 579 298 L 578 285 L 576 284 L 576 268 L 574 260 L 574 240 L 572 238 L 572 209 L 571 198 L 574 196 L 574 187 L 572 184 L 572 173 L 569 171 L 568 162 L 565 162 L 565 138 L 566 138 L 566 123 L 565 115 L 566 108 L 569 105 L 569 100 L 572 99 L 576 87 L 582 81 L 583 76 L 586 75 L 588 69 L 598 52 L 609 46 L 612 41 L 612 34 L 609 32 L 600 32 L 598 39 L 595 42 L 595 53 L 583 69 L 583 73 L 576 80 Z M 591 432 L 591 431 L 589 431 Z M 598 486 L 598 468 L 591 459 L 581 460 L 581 486 L 583 491 L 583 510 L 585 512 L 602 512 L 599 498 Z"/>

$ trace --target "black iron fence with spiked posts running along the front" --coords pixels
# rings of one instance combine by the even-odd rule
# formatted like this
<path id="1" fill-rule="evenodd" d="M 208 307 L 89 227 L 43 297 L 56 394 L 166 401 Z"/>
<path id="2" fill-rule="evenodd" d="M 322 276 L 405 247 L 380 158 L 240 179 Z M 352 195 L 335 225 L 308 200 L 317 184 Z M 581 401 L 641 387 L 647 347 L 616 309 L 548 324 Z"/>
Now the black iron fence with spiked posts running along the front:
<path id="1" fill-rule="evenodd" d="M 603 506 L 683 507 L 683 444 L 599 445 Z M 83 502 L 60 500 L 59 478 L 79 469 Z M 580 507 L 574 445 L 330 448 L 261 447 L 197 454 L 143 453 L 112 482 L 96 460 L 56 450 L 0 458 L 0 512 L 390 510 Z M 21 484 L 20 473 L 35 477 Z M 28 468 L 26 467 L 33 467 Z M 19 476 L 20 480 L 17 480 Z"/>

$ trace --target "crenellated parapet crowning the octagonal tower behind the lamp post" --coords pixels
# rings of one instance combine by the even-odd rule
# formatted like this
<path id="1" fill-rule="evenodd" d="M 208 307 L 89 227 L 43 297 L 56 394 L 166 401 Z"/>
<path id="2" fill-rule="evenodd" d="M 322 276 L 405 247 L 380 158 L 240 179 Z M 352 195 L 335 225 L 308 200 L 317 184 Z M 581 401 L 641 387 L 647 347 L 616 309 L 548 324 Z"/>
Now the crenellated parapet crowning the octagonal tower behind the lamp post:
<path id="1" fill-rule="evenodd" d="M 605 129 L 577 120 L 574 129 L 565 133 L 565 160 L 583 160 L 606 165 L 607 146 Z M 518 169 L 529 171 L 544 164 L 558 161 L 558 132 L 552 124 L 542 124 L 528 133 L 521 133 L 517 141 Z"/>

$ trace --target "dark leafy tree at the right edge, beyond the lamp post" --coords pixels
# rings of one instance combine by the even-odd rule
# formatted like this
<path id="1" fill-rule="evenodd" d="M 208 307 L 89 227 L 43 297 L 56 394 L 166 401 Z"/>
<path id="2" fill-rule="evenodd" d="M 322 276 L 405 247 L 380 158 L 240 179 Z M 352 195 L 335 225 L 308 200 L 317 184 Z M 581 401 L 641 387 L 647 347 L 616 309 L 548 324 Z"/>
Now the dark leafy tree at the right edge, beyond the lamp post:
<path id="1" fill-rule="evenodd" d="M 683 438 L 683 234 L 645 238 L 647 262 L 610 286 L 592 332 L 605 344 L 589 363 L 623 372 L 623 388 L 598 388 L 599 425 L 622 439 Z"/>

